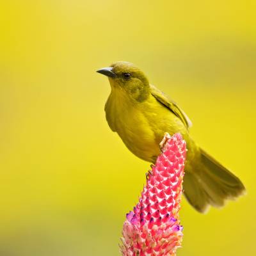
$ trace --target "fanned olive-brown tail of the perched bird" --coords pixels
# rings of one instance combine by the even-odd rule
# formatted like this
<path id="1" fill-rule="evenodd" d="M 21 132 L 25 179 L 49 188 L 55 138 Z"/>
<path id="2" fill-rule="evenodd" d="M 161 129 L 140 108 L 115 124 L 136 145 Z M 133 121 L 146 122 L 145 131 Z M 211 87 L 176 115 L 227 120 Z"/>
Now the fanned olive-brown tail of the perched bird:
<path id="1" fill-rule="evenodd" d="M 204 150 L 200 149 L 200 153 L 201 163 L 184 175 L 184 195 L 189 204 L 205 212 L 209 205 L 221 207 L 226 200 L 234 200 L 245 193 L 241 180 Z"/>

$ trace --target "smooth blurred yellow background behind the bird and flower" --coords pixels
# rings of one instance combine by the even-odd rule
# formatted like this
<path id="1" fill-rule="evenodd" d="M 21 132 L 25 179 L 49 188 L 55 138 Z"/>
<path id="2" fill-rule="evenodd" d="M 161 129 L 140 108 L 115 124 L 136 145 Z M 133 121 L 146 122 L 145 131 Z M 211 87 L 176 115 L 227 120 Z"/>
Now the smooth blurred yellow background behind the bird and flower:
<path id="1" fill-rule="evenodd" d="M 182 201 L 178 255 L 255 255 L 255 1 L 5 1 L 0 8 L 0 255 L 119 255 L 145 183 L 105 120 L 113 61 L 179 102 L 247 195 Z"/>

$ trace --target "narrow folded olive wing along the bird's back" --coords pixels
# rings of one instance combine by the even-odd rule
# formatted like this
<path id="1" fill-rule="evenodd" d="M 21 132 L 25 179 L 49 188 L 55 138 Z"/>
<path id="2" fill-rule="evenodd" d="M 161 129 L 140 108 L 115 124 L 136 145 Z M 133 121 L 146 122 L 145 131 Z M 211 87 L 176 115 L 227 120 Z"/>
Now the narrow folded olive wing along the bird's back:
<path id="1" fill-rule="evenodd" d="M 163 92 L 158 90 L 156 86 L 150 84 L 150 92 L 161 104 L 170 109 L 174 115 L 178 116 L 187 129 L 192 126 L 192 122 L 189 120 L 184 111 L 180 109 L 173 100 L 168 99 L 168 97 L 164 95 Z"/>

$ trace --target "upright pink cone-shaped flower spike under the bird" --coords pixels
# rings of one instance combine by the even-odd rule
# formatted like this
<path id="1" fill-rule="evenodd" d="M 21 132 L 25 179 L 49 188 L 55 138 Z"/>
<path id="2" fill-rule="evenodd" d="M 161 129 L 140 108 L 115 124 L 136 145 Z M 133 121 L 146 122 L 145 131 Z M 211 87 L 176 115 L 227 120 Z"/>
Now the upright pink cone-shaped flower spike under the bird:
<path id="1" fill-rule="evenodd" d="M 139 203 L 122 230 L 124 256 L 176 255 L 182 241 L 179 221 L 186 142 L 177 133 L 164 135 L 162 153 L 152 166 Z"/>

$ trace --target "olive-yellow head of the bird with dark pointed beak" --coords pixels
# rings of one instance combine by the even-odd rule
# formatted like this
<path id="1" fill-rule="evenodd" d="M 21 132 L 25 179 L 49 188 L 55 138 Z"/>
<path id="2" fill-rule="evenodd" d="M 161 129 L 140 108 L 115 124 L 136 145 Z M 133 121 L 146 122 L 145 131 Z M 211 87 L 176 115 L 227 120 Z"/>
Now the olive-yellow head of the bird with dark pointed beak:
<path id="1" fill-rule="evenodd" d="M 147 77 L 132 63 L 118 61 L 97 72 L 109 77 L 112 90 L 120 90 L 138 102 L 147 99 L 150 93 Z"/>

